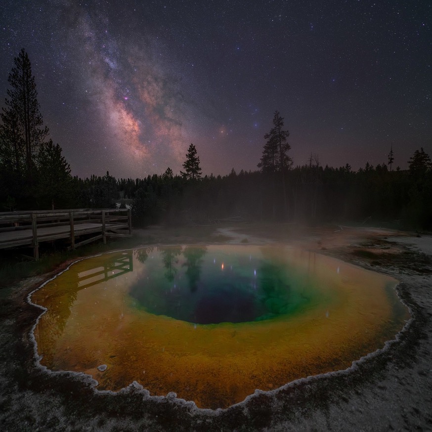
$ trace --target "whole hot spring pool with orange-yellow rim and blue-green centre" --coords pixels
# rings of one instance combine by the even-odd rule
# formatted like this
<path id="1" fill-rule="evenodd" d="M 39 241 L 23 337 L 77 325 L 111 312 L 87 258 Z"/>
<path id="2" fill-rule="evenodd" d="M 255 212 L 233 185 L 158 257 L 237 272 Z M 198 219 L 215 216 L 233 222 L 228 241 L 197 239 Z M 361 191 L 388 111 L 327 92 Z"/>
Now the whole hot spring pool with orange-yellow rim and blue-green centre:
<path id="1" fill-rule="evenodd" d="M 41 364 L 200 408 L 346 369 L 409 318 L 397 281 L 275 246 L 170 246 L 84 259 L 31 296 Z"/>

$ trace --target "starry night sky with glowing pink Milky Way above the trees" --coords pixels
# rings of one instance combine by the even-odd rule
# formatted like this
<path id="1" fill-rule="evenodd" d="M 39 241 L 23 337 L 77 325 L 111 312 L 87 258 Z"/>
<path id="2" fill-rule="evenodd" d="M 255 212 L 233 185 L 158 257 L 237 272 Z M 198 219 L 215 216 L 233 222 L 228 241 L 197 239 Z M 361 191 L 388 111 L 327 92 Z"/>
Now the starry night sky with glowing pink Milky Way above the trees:
<path id="1" fill-rule="evenodd" d="M 432 154 L 432 2 L 1 0 L 0 102 L 24 47 L 72 173 L 257 170 L 273 112 L 294 166 Z"/>

